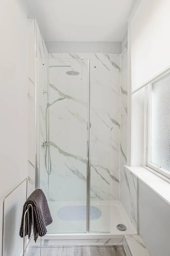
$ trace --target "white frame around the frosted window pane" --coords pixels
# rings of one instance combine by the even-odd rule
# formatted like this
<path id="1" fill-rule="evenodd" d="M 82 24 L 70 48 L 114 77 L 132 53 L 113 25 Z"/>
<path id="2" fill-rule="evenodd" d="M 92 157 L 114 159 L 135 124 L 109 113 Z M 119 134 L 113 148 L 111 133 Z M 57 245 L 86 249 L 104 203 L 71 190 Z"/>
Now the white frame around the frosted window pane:
<path id="1" fill-rule="evenodd" d="M 153 82 L 159 80 L 161 77 L 166 76 L 169 73 L 166 72 L 162 75 L 160 75 L 159 78 L 155 79 Z M 159 172 L 160 174 L 164 175 L 165 177 L 170 179 L 170 172 L 162 168 L 161 166 L 155 165 L 151 162 L 151 113 L 152 113 L 152 102 L 151 102 L 151 88 L 152 88 L 152 83 L 149 83 L 147 85 L 147 120 L 146 120 L 146 125 L 147 125 L 147 155 L 146 155 L 146 166 L 155 170 L 156 172 Z"/>

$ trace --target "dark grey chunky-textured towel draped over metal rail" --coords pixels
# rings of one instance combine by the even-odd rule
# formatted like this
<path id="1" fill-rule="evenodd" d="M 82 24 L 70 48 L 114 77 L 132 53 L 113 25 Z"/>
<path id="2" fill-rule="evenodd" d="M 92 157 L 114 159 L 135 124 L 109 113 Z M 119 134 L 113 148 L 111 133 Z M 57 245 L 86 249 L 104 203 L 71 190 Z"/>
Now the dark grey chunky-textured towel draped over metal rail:
<path id="1" fill-rule="evenodd" d="M 36 242 L 38 235 L 43 237 L 47 233 L 46 226 L 53 222 L 48 207 L 47 199 L 41 189 L 36 189 L 28 197 L 22 212 L 21 227 L 19 235 L 23 237 L 24 232 L 24 213 L 30 206 L 25 216 L 25 236 L 30 238 L 31 228 L 33 225 L 34 240 Z"/>

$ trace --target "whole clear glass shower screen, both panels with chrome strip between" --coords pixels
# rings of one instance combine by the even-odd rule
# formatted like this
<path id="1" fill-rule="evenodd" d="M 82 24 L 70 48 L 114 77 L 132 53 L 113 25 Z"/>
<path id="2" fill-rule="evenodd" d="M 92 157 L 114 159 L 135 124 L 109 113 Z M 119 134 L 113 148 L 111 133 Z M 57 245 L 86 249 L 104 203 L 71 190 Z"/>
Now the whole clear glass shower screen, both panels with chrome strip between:
<path id="1" fill-rule="evenodd" d="M 109 66 L 110 61 L 106 62 Z M 93 88 L 95 71 L 91 60 L 83 58 L 40 58 L 37 62 L 37 186 L 48 200 L 53 223 L 47 231 L 51 234 L 110 232 L 109 148 L 98 147 L 101 137 L 109 144 L 110 134 L 103 127 L 96 130 L 98 110 L 108 112 L 108 98 L 101 94 L 100 85 L 97 91 Z M 109 81 L 110 75 L 106 70 L 97 79 Z M 109 120 L 108 116 L 103 122 Z"/>

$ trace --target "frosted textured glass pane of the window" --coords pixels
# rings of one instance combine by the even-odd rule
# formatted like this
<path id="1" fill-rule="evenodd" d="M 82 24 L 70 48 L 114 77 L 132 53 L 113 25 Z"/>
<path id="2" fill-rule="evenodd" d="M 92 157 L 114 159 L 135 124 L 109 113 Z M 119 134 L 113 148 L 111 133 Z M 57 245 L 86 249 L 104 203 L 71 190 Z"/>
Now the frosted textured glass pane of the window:
<path id="1" fill-rule="evenodd" d="M 170 171 L 170 74 L 152 84 L 151 162 Z"/>

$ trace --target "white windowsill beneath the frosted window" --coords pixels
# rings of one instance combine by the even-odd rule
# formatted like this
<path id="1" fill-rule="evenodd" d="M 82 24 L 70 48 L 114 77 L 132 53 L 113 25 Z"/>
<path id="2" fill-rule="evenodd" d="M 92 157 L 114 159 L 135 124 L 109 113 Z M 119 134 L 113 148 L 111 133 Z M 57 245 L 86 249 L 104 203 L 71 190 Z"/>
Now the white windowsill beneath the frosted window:
<path id="1" fill-rule="evenodd" d="M 162 179 L 143 166 L 130 167 L 125 165 L 125 168 L 170 205 L 170 184 L 168 178 Z"/>

